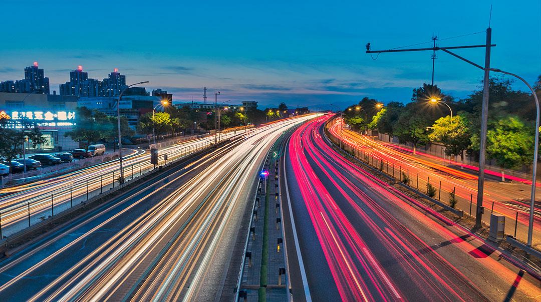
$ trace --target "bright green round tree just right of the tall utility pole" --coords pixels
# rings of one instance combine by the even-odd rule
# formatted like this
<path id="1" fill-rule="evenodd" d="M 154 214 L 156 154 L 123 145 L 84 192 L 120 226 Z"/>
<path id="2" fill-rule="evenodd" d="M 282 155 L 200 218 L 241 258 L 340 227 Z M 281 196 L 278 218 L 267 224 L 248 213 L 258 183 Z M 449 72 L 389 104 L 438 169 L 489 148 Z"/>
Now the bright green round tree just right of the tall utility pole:
<path id="1" fill-rule="evenodd" d="M 472 136 L 472 147 L 479 150 L 479 136 Z M 507 116 L 489 123 L 486 134 L 486 155 L 496 160 L 502 168 L 502 181 L 505 181 L 504 168 L 528 165 L 533 158 L 534 138 L 532 129 L 516 116 Z"/>

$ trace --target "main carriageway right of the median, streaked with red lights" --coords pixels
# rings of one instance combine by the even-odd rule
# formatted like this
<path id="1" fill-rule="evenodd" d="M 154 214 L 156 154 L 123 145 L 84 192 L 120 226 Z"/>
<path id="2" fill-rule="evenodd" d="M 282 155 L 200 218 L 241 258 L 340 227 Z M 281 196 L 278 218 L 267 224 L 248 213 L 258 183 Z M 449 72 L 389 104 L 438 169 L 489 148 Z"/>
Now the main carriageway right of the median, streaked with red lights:
<path id="1" fill-rule="evenodd" d="M 541 298 L 512 259 L 331 148 L 329 117 L 296 130 L 281 163 L 295 301 Z"/>

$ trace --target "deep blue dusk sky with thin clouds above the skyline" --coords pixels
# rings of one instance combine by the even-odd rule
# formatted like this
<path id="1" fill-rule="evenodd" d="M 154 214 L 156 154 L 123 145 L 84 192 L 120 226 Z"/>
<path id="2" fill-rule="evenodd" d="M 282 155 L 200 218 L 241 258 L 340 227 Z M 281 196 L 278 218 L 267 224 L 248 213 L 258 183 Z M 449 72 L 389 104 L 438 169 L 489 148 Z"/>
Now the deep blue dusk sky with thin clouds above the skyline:
<path id="1" fill-rule="evenodd" d="M 221 101 L 263 108 L 331 109 L 365 96 L 408 102 L 413 88 L 431 81 L 432 52 L 371 56 L 365 44 L 430 47 L 433 35 L 441 47 L 483 44 L 491 5 L 492 67 L 533 84 L 541 74 L 538 0 L 3 0 L 0 81 L 23 78 L 38 61 L 57 91 L 82 65 L 100 80 L 118 68 L 128 84 L 150 81 L 147 90 L 165 89 L 176 102 L 202 101 L 203 87 L 209 100 L 217 89 Z M 484 62 L 482 48 L 456 52 Z M 444 93 L 465 97 L 482 78 L 482 70 L 437 53 L 434 82 Z"/>

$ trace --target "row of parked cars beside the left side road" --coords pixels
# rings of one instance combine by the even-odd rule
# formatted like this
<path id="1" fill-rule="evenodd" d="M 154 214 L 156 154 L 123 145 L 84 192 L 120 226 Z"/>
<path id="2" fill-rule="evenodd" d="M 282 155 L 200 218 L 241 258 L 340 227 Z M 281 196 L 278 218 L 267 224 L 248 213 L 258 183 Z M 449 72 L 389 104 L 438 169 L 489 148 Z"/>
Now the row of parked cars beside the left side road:
<path id="1" fill-rule="evenodd" d="M 15 159 L 11 161 L 3 161 L 0 163 L 0 175 L 8 175 L 9 173 L 23 172 L 24 166 L 27 170 L 37 169 L 42 165 L 58 165 L 62 162 L 72 162 L 74 158 L 84 159 L 94 155 L 103 155 L 105 153 L 104 145 L 91 145 L 88 150 L 75 149 L 70 152 L 59 152 L 55 155 L 51 154 L 34 154 L 26 159 Z"/>

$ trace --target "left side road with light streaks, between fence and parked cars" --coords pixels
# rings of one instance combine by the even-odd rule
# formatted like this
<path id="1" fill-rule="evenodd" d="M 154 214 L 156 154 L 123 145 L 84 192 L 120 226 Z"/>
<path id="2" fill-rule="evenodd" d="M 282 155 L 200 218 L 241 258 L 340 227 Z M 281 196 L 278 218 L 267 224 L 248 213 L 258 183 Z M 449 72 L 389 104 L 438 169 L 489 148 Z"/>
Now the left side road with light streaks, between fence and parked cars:
<path id="1" fill-rule="evenodd" d="M 232 136 L 234 133 L 221 134 L 221 140 L 227 140 Z M 208 136 L 162 148 L 159 150 L 160 163 L 164 163 L 163 154 L 168 154 L 168 162 L 170 162 L 208 147 L 212 143 L 214 143 L 214 136 Z M 122 163 L 124 178 L 127 180 L 155 168 L 150 164 L 149 153 L 144 151 L 124 156 Z M 116 182 L 118 186 L 119 175 L 120 164 L 117 159 L 54 178 L 0 190 L 3 236 L 14 234 L 28 227 L 29 224 L 34 225 L 43 217 L 52 215 L 51 199 L 54 201 L 55 213 L 59 213 L 68 209 L 71 204 L 87 200 L 88 196 L 107 191 L 114 186 L 113 182 Z M 28 217 L 29 210 L 30 217 Z"/>

